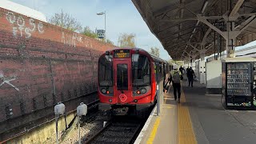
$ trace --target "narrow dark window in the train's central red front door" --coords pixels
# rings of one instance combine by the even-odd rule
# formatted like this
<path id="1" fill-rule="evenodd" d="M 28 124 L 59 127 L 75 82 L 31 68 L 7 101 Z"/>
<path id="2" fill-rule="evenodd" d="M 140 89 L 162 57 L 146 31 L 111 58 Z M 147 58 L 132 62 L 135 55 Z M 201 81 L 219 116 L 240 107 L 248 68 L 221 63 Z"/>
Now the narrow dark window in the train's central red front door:
<path id="1" fill-rule="evenodd" d="M 118 64 L 117 84 L 118 84 L 118 90 L 128 90 L 127 64 Z"/>

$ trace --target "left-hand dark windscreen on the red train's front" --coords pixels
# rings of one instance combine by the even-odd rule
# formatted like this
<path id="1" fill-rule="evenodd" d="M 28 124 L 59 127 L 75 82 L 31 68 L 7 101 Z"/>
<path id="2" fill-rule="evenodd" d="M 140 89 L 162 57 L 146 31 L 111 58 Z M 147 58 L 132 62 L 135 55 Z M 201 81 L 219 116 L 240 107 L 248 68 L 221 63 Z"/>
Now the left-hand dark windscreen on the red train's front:
<path id="1" fill-rule="evenodd" d="M 113 57 L 105 55 L 98 61 L 99 86 L 113 86 Z"/>

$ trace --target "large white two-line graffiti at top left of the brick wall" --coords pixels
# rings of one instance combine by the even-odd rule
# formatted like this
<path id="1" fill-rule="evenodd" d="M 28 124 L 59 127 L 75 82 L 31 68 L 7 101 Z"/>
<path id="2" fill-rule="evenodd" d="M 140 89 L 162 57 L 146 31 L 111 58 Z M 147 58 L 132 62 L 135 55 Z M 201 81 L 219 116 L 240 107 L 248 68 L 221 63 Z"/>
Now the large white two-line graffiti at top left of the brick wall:
<path id="1" fill-rule="evenodd" d="M 21 15 L 17 17 L 13 12 L 9 11 L 6 14 L 6 19 L 13 26 L 14 37 L 20 35 L 20 37 L 31 38 L 35 31 L 38 31 L 39 34 L 44 33 L 42 22 L 36 24 L 33 18 L 29 19 L 28 25 L 26 26 L 26 20 Z"/>

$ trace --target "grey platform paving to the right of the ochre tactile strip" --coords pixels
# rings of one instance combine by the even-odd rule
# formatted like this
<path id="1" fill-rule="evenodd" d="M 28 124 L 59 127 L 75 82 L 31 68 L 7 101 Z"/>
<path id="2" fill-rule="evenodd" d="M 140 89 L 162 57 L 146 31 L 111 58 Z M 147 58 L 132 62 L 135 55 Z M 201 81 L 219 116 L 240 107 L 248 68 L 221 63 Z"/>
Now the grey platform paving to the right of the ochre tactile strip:
<path id="1" fill-rule="evenodd" d="M 198 82 L 182 88 L 199 144 L 256 143 L 254 111 L 224 110 L 221 95 L 206 95 Z"/>

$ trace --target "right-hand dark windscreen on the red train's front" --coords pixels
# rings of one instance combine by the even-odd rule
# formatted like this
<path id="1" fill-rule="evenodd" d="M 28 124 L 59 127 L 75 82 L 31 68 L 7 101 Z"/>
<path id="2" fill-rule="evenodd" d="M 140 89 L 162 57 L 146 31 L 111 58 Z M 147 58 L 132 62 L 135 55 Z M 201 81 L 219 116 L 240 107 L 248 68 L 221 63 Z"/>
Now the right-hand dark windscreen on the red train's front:
<path id="1" fill-rule="evenodd" d="M 132 58 L 133 86 L 150 85 L 150 61 L 142 54 L 133 54 Z"/>

